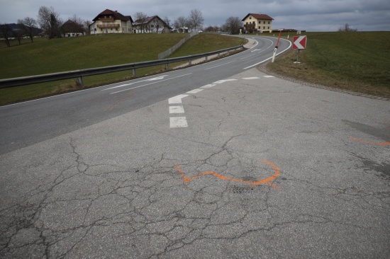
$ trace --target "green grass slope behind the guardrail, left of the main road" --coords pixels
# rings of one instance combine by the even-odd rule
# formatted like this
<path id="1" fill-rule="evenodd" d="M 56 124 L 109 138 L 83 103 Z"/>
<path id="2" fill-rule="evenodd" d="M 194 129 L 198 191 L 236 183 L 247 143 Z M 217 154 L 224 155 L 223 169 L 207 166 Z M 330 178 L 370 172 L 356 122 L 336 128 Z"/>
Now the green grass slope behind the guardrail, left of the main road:
<path id="1" fill-rule="evenodd" d="M 12 47 L 5 47 L 5 44 L 0 47 L 0 79 L 155 60 L 160 52 L 169 49 L 186 35 L 110 34 L 53 40 L 38 38 L 33 43 L 23 40 L 22 45 L 11 42 Z M 178 52 L 179 56 L 186 56 L 241 44 L 242 39 L 237 42 L 232 37 L 201 34 L 187 41 Z M 164 66 L 137 69 L 136 76 L 163 70 Z M 0 89 L 0 105 L 123 81 L 131 77 L 131 71 L 122 71 L 84 77 L 83 87 L 77 85 L 77 79 L 72 79 L 4 88 Z"/>

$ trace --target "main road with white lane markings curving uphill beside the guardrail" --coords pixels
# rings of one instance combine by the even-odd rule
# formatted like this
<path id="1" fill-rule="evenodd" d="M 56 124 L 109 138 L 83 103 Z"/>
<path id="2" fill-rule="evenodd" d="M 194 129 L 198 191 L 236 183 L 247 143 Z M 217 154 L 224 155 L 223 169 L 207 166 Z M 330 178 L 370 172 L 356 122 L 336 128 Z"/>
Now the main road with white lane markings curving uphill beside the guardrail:
<path id="1" fill-rule="evenodd" d="M 250 50 L 195 67 L 0 107 L 0 154 L 108 120 L 255 67 L 277 38 L 253 37 Z M 291 46 L 279 42 L 277 53 Z M 115 107 L 115 108 L 114 108 Z"/>

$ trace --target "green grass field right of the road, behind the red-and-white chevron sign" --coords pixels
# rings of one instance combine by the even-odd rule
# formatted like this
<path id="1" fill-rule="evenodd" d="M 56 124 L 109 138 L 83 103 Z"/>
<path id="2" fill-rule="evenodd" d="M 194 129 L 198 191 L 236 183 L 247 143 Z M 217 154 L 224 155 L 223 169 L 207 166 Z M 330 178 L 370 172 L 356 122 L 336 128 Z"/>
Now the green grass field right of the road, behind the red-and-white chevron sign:
<path id="1" fill-rule="evenodd" d="M 301 64 L 294 64 L 298 51 L 289 50 L 266 68 L 311 84 L 390 98 L 390 32 L 302 35 L 307 45 L 300 51 Z"/>

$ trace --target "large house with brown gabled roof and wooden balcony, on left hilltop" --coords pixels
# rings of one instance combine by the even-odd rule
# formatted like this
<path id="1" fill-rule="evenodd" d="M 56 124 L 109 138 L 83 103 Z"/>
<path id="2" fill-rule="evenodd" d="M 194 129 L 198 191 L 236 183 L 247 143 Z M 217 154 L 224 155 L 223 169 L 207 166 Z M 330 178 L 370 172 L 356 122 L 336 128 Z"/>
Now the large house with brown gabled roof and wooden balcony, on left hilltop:
<path id="1" fill-rule="evenodd" d="M 133 19 L 123 16 L 118 11 L 106 9 L 94 18 L 89 25 L 91 34 L 102 33 L 133 33 Z"/>

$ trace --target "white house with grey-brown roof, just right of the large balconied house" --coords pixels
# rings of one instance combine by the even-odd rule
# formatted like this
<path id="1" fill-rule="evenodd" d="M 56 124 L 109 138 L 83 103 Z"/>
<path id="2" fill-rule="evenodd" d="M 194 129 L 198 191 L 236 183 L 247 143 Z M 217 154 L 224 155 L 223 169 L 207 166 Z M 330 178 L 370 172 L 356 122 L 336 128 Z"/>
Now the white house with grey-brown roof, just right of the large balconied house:
<path id="1" fill-rule="evenodd" d="M 135 21 L 133 30 L 134 33 L 169 33 L 172 28 L 160 17 L 151 16 Z"/>

